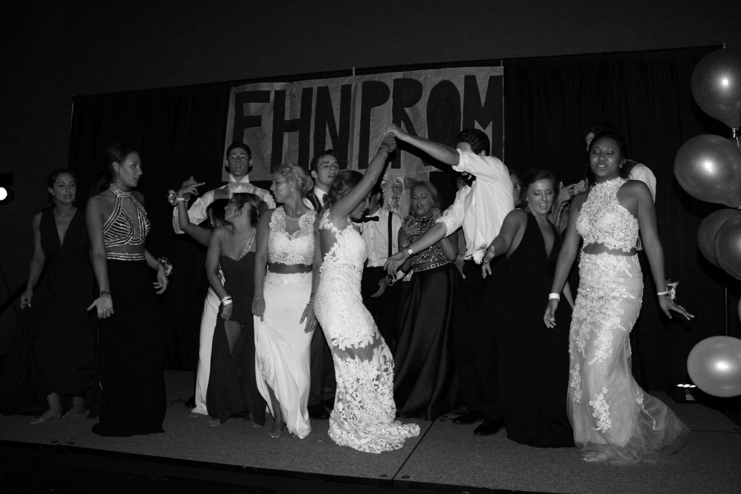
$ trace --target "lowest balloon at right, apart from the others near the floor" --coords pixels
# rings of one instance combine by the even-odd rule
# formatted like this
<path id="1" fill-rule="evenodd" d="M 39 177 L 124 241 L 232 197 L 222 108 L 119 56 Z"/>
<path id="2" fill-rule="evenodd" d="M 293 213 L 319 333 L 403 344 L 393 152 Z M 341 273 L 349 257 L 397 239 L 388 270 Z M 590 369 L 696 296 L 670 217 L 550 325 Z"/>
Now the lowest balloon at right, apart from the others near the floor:
<path id="1" fill-rule="evenodd" d="M 711 336 L 696 344 L 687 358 L 692 382 L 714 396 L 741 395 L 741 340 Z"/>

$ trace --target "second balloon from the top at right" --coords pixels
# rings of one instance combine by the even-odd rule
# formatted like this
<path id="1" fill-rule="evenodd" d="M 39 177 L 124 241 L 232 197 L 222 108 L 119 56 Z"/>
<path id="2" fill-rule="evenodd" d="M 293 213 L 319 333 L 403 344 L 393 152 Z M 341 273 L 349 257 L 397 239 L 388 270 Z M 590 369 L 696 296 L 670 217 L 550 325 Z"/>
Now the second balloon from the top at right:
<path id="1" fill-rule="evenodd" d="M 741 204 L 741 151 L 726 138 L 703 134 L 682 144 L 674 158 L 674 176 L 700 201 Z"/>

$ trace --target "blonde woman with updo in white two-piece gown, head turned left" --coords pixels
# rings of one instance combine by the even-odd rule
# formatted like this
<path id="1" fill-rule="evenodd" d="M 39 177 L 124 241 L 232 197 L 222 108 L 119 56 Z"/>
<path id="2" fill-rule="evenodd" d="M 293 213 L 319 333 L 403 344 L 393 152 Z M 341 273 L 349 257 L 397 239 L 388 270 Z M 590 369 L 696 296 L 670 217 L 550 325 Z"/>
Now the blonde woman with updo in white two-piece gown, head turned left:
<path id="1" fill-rule="evenodd" d="M 279 167 L 270 192 L 282 206 L 266 211 L 257 227 L 255 365 L 257 388 L 275 419 L 268 433 L 273 438 L 280 437 L 283 427 L 299 438 L 311 431 L 307 404 L 316 318 L 309 298 L 316 213 L 303 201 L 311 187 L 301 167 Z"/>

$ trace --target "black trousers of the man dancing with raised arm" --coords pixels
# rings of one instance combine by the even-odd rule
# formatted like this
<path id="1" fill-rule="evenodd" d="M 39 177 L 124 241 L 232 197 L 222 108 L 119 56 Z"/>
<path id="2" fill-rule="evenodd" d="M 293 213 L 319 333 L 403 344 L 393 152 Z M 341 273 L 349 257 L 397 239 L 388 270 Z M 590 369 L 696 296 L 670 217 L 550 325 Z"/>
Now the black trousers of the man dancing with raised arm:
<path id="1" fill-rule="evenodd" d="M 497 283 L 501 279 L 498 264 L 494 262 L 492 276 L 484 279 L 480 264 L 464 261 L 465 279 L 453 308 L 453 352 L 463 401 L 468 411 L 482 413 L 489 419 L 502 418 L 496 369 L 496 314 L 491 309 L 501 288 Z"/>

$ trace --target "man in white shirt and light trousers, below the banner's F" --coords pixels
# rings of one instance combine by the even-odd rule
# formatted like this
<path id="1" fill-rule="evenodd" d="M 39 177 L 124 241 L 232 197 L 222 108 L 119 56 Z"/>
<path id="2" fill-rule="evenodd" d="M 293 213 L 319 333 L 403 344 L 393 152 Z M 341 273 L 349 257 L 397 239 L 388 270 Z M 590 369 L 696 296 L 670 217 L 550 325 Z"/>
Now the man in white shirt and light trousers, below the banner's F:
<path id="1" fill-rule="evenodd" d="M 216 199 L 230 198 L 234 193 L 248 192 L 253 193 L 268 204 L 268 208 L 276 207 L 276 202 L 270 192 L 250 184 L 247 173 L 251 168 L 252 158 L 251 150 L 247 144 L 242 142 L 233 142 L 227 147 L 227 154 L 224 160 L 224 166 L 229 172 L 229 183 L 218 189 L 209 190 L 201 197 L 196 198 L 193 205 L 187 212 L 190 222 L 200 224 L 207 218 L 207 207 Z M 189 185 L 198 186 L 199 183 L 188 178 L 183 182 L 182 187 Z M 188 201 L 190 195 L 176 198 L 177 201 Z M 185 233 L 180 229 L 178 208 L 173 210 L 173 230 L 175 233 Z M 208 378 L 210 376 L 211 366 L 211 341 L 213 341 L 213 328 L 216 327 L 216 316 L 219 313 L 219 297 L 213 292 L 211 287 L 208 288 L 205 303 L 203 304 L 203 313 L 201 316 L 201 332 L 199 336 L 198 350 L 198 369 L 196 370 L 196 394 L 194 396 L 193 413 L 207 415 L 206 409 L 206 389 Z"/>

